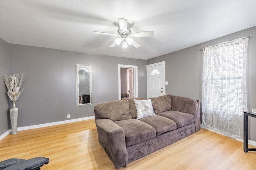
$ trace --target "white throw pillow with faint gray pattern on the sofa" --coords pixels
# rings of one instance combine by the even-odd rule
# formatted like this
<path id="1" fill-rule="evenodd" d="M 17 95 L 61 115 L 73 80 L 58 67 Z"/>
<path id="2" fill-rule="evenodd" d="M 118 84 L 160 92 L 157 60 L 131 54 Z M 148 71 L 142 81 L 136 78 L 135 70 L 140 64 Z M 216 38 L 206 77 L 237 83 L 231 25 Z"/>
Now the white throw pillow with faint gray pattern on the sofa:
<path id="1" fill-rule="evenodd" d="M 148 100 L 134 99 L 133 101 L 137 109 L 137 119 L 156 115 L 153 110 L 151 99 L 148 99 Z"/>

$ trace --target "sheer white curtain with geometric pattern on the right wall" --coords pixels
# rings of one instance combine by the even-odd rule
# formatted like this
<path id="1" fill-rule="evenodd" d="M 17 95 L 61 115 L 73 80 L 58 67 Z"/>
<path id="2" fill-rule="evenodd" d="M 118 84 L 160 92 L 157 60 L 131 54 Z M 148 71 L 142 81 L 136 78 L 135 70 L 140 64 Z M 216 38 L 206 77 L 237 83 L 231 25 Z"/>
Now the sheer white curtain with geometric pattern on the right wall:
<path id="1" fill-rule="evenodd" d="M 202 125 L 232 137 L 243 137 L 247 110 L 248 37 L 203 50 Z"/>

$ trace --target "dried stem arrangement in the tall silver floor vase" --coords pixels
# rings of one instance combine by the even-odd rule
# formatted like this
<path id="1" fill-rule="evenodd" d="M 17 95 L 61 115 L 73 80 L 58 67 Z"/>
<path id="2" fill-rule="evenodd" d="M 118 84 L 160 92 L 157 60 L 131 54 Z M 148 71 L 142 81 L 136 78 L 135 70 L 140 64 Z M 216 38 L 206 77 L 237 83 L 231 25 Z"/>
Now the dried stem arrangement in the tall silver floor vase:
<path id="1" fill-rule="evenodd" d="M 28 80 L 28 82 L 31 80 L 31 78 Z M 3 79 L 4 79 L 4 84 L 7 88 L 6 93 L 8 94 L 10 100 L 12 101 L 18 100 L 18 98 L 20 97 L 20 94 L 28 84 L 27 82 L 26 85 L 22 88 L 22 90 L 20 90 L 22 83 L 24 82 L 24 79 L 25 79 L 25 73 L 22 73 L 22 74 L 17 73 L 13 75 L 6 75 L 4 73 Z"/>

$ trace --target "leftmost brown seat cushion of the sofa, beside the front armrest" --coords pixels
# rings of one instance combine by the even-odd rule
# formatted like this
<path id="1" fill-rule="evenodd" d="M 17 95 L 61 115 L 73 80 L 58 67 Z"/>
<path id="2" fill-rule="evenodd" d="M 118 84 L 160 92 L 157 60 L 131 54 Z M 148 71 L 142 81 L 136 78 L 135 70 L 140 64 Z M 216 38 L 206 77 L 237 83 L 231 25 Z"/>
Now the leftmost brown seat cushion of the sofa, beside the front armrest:
<path id="1" fill-rule="evenodd" d="M 135 145 L 156 137 L 156 129 L 137 119 L 114 121 L 124 129 L 126 146 Z"/>

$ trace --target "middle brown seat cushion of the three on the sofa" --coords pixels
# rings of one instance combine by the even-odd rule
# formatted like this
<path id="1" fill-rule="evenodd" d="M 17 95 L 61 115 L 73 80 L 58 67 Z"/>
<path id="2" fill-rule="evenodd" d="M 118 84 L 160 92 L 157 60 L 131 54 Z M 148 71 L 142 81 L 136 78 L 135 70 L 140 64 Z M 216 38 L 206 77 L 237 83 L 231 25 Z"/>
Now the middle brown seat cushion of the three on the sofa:
<path id="1" fill-rule="evenodd" d="M 156 136 L 177 129 L 177 125 L 173 120 L 160 115 L 144 117 L 140 121 L 154 127 L 156 129 Z"/>

